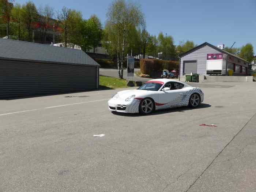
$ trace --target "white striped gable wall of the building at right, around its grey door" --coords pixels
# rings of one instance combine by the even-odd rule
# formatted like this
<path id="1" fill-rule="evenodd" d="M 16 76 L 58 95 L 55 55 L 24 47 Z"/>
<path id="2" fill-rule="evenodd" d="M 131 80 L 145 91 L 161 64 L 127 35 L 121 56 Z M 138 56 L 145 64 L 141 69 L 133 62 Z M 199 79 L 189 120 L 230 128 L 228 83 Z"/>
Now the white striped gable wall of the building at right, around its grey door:
<path id="1" fill-rule="evenodd" d="M 197 74 L 206 75 L 207 53 L 221 53 L 216 49 L 205 45 L 194 52 L 188 53 L 180 59 L 180 75 L 183 74 L 183 61 L 197 61 Z"/>

